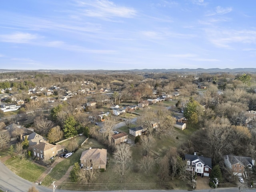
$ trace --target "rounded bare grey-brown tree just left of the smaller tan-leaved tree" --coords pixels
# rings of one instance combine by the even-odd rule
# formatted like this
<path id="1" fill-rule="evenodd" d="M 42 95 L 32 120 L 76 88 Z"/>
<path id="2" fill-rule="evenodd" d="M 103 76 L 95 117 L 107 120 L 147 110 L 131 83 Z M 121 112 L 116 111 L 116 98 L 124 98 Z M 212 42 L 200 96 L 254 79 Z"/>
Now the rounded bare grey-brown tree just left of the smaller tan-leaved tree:
<path id="1" fill-rule="evenodd" d="M 34 128 L 41 135 L 46 136 L 50 128 L 52 127 L 52 121 L 48 120 L 44 116 L 37 116 L 34 121 Z"/>

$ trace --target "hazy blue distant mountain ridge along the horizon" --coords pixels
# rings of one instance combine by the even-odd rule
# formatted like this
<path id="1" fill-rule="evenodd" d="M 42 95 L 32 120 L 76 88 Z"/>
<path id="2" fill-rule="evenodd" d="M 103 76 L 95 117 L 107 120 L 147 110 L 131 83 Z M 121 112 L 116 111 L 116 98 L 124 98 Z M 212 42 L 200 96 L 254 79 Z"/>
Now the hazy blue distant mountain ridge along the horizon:
<path id="1" fill-rule="evenodd" d="M 9 69 L 0 69 L 0 73 L 4 72 L 49 72 L 49 73 L 112 73 L 112 72 L 156 72 L 156 73 L 167 73 L 167 72 L 173 72 L 173 73 L 256 73 L 256 68 L 234 68 L 234 69 L 220 69 L 220 68 L 210 68 L 210 69 L 204 69 L 204 68 L 197 68 L 197 69 L 189 69 L 189 68 L 183 68 L 183 69 L 132 69 L 132 70 L 47 70 L 47 69 L 38 69 L 38 70 L 9 70 Z"/>

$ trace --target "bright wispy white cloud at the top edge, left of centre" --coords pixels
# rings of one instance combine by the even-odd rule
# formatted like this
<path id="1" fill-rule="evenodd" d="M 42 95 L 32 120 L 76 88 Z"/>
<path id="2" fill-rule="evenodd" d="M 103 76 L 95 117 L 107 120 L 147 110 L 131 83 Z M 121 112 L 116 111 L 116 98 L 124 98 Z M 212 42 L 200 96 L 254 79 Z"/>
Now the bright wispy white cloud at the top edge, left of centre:
<path id="1" fill-rule="evenodd" d="M 137 11 L 133 8 L 119 6 L 108 0 L 75 0 L 78 6 L 85 8 L 83 14 L 97 18 L 132 18 Z"/>

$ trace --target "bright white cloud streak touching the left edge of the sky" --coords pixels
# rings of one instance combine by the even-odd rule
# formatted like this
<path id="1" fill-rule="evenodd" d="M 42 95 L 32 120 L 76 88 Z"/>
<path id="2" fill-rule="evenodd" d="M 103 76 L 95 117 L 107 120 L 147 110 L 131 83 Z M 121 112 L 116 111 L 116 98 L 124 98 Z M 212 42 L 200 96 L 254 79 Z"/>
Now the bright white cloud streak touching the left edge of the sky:
<path id="1" fill-rule="evenodd" d="M 0 41 L 10 43 L 28 43 L 40 38 L 36 34 L 16 32 L 13 34 L 0 35 Z"/>

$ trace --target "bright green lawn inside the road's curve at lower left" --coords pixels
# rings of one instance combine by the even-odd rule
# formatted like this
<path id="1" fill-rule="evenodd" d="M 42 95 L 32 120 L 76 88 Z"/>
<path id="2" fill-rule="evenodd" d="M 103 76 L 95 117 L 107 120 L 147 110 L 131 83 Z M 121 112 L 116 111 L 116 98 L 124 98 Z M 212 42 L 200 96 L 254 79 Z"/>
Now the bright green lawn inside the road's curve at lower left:
<path id="1" fill-rule="evenodd" d="M 34 164 L 28 159 L 21 160 L 18 157 L 12 157 L 6 160 L 4 164 L 16 175 L 30 182 L 35 182 L 46 170 L 45 167 Z"/>

